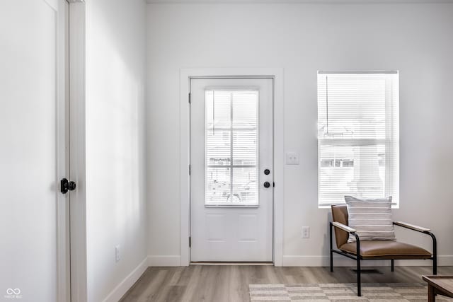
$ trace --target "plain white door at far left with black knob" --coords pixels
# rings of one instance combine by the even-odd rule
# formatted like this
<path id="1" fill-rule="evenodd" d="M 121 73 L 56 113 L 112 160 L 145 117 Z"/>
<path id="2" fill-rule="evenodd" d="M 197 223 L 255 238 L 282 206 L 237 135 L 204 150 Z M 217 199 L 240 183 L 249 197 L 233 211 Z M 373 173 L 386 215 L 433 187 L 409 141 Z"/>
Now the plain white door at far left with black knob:
<path id="1" fill-rule="evenodd" d="M 60 30 L 66 29 L 59 28 L 58 5 L 58 1 L 0 1 L 2 301 L 52 302 L 67 297 L 58 293 L 59 282 L 65 283 L 68 275 L 64 259 L 57 265 L 59 248 L 66 245 L 57 238 L 67 231 L 58 225 L 64 219 L 57 215 L 65 202 L 59 178 L 65 169 L 66 97 L 64 66 L 59 64 L 66 62 L 59 56 L 63 51 L 59 38 L 64 36 Z"/>

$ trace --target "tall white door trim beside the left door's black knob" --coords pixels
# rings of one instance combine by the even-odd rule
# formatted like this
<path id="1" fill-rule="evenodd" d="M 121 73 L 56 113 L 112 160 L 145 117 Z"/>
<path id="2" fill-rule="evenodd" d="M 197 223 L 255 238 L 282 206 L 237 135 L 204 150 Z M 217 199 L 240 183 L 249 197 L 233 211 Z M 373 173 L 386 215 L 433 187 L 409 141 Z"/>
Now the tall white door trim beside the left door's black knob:
<path id="1" fill-rule="evenodd" d="M 69 1 L 69 179 L 77 183 L 70 194 L 71 301 L 88 300 L 86 255 L 85 78 L 86 4 Z"/>

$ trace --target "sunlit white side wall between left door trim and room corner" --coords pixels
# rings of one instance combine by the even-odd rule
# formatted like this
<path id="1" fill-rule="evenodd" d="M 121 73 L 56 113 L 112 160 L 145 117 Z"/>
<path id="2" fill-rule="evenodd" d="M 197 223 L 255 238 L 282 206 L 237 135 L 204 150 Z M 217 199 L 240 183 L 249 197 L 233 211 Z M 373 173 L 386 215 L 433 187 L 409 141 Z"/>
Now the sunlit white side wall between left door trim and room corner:
<path id="1" fill-rule="evenodd" d="M 144 1 L 86 1 L 88 301 L 117 301 L 147 265 L 145 38 Z"/>

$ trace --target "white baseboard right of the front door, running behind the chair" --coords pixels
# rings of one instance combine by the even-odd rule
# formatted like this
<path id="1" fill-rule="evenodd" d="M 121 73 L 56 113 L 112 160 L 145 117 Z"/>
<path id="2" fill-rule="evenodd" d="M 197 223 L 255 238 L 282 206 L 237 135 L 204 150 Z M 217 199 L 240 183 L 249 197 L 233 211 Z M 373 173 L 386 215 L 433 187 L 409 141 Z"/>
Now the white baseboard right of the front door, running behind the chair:
<path id="1" fill-rule="evenodd" d="M 367 260 L 361 262 L 364 267 L 381 267 L 390 265 L 390 260 Z M 340 255 L 333 256 L 334 267 L 354 267 L 355 260 L 348 259 Z M 396 266 L 431 266 L 431 260 L 395 260 Z M 437 256 L 438 266 L 453 265 L 453 255 Z M 328 267 L 330 266 L 330 257 L 328 256 L 283 256 L 284 267 Z"/>

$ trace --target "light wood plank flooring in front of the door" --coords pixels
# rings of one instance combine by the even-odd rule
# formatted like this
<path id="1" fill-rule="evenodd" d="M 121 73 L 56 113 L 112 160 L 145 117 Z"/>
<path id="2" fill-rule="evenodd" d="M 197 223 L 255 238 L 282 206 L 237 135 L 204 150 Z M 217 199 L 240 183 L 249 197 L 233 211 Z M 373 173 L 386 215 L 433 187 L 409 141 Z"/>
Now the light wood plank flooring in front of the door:
<path id="1" fill-rule="evenodd" d="M 375 267 L 378 272 L 362 273 L 362 282 L 420 282 L 431 267 Z M 354 283 L 352 267 L 273 267 L 253 265 L 190 265 L 149 267 L 122 302 L 144 301 L 249 301 L 248 284 Z M 372 269 L 363 267 L 362 269 Z M 439 267 L 439 274 L 453 274 L 453 267 Z"/>

